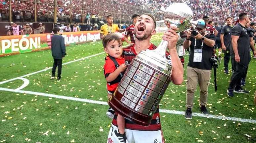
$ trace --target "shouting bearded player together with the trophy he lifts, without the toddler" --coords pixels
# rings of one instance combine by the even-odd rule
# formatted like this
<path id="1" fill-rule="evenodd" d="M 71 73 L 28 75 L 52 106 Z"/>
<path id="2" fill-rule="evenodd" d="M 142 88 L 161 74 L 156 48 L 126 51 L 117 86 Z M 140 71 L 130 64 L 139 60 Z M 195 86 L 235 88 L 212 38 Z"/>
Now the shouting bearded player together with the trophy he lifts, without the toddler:
<path id="1" fill-rule="evenodd" d="M 181 7 L 187 11 L 181 12 Z M 154 16 L 142 14 L 136 22 L 136 42 L 124 48 L 122 54 L 130 65 L 108 101 L 116 114 L 126 118 L 125 143 L 164 143 L 158 104 L 170 82 L 178 85 L 183 82 L 183 66 L 176 50 L 177 32 L 187 29 L 191 18 L 192 10 L 186 4 L 169 6 L 164 14 L 169 29 L 158 47 L 150 43 L 151 36 L 156 33 Z M 166 52 L 167 47 L 169 52 Z M 124 143 L 113 136 L 117 130 L 116 117 L 107 143 Z"/>

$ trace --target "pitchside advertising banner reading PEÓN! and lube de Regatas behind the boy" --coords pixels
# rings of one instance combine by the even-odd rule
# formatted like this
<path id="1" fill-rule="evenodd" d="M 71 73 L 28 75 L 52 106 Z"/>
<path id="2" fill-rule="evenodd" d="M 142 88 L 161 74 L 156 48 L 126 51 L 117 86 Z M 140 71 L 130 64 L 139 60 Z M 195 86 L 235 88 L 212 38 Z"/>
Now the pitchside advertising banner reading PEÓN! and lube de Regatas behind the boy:
<path id="1" fill-rule="evenodd" d="M 0 36 L 0 57 L 51 48 L 53 34 Z M 100 40 L 100 31 L 64 32 L 65 45 Z"/>

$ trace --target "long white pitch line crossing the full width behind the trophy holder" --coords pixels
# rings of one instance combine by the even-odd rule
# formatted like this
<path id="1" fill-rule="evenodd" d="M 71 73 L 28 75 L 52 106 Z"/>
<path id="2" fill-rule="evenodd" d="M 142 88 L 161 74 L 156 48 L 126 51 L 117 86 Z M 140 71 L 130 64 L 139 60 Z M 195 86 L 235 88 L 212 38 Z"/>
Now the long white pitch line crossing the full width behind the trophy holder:
<path id="1" fill-rule="evenodd" d="M 17 93 L 32 94 L 32 95 L 40 95 L 40 96 L 46 96 L 46 97 L 54 97 L 54 98 L 73 100 L 73 101 L 81 101 L 81 102 L 100 104 L 100 105 L 108 105 L 107 102 L 103 102 L 103 101 L 95 101 L 95 100 L 89 100 L 89 99 L 74 98 L 74 97 L 47 94 L 47 93 L 41 93 L 41 92 L 15 90 L 15 89 L 8 89 L 8 88 L 1 88 L 1 87 L 0 87 L 0 90 L 10 91 L 10 92 L 17 92 Z M 163 113 L 169 113 L 169 114 L 178 114 L 178 115 L 184 115 L 185 114 L 184 111 L 177 111 L 177 110 L 159 109 L 159 111 L 163 112 Z M 235 117 L 216 116 L 216 115 L 206 116 L 202 113 L 192 113 L 192 115 L 193 116 L 198 116 L 198 117 L 204 117 L 204 118 L 213 118 L 213 119 L 229 120 L 229 121 L 237 121 L 237 122 L 245 122 L 245 123 L 256 123 L 256 120 L 252 120 L 252 119 L 243 119 L 243 118 L 235 118 Z"/>

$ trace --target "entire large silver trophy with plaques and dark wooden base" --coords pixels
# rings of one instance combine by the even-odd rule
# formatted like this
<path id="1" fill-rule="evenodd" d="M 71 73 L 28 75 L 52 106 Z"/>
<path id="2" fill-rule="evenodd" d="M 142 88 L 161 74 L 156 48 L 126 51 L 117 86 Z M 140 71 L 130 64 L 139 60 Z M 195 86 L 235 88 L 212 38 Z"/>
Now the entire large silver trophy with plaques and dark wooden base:
<path id="1" fill-rule="evenodd" d="M 177 32 L 187 29 L 192 10 L 183 3 L 170 5 L 164 12 L 168 28 Z M 130 63 L 108 104 L 118 114 L 135 123 L 148 126 L 165 90 L 171 82 L 172 65 L 166 59 L 168 41 L 162 40 L 155 50 L 141 51 Z"/>

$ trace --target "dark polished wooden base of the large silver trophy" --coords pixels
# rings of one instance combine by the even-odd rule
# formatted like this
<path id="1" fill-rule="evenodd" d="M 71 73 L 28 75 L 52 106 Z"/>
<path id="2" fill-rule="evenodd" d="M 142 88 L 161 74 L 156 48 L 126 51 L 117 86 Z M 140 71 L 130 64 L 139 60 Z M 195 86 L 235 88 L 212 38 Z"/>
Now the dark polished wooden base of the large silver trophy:
<path id="1" fill-rule="evenodd" d="M 141 126 L 149 126 L 152 117 L 141 114 L 120 102 L 122 94 L 116 91 L 114 95 L 107 101 L 108 105 L 114 109 L 115 112 L 122 115 L 124 118 L 135 122 Z"/>

